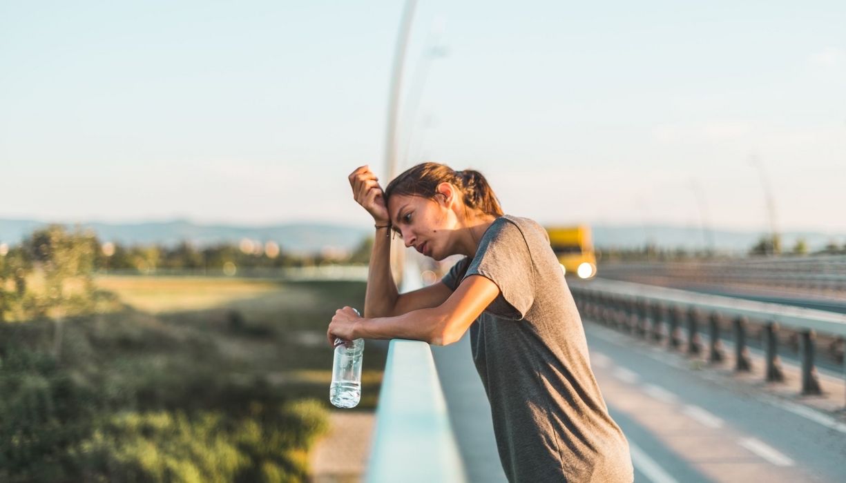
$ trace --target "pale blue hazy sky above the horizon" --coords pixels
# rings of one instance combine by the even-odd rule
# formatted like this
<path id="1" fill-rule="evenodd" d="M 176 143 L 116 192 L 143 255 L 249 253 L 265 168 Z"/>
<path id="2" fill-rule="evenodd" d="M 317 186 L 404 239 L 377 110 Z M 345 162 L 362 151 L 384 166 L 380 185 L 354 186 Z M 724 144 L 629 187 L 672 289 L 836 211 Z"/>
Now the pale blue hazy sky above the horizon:
<path id="1" fill-rule="evenodd" d="M 0 0 L 0 217 L 366 225 L 347 175 L 387 178 L 403 7 Z M 421 0 L 399 158 L 544 223 L 846 233 L 843 25 L 842 0 Z"/>

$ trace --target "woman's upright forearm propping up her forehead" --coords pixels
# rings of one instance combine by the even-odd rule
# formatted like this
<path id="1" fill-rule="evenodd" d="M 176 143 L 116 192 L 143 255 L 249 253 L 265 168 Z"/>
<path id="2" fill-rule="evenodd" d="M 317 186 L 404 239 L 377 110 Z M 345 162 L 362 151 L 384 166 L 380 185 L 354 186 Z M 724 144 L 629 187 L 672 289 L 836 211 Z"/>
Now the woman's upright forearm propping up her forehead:
<path id="1" fill-rule="evenodd" d="M 365 317 L 387 317 L 393 315 L 399 292 L 391 273 L 390 228 L 376 228 L 373 239 L 370 269 L 367 272 L 365 292 Z"/>

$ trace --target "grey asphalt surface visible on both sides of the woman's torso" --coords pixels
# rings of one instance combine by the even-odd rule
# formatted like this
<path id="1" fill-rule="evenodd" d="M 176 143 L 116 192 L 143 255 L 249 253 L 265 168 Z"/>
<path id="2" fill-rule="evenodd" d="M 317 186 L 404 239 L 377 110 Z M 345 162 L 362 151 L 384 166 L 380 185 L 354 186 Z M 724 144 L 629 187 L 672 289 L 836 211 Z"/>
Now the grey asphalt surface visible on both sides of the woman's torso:
<path id="1" fill-rule="evenodd" d="M 635 481 L 846 480 L 842 414 L 692 369 L 682 355 L 591 322 L 585 332 L 608 409 L 629 440 Z M 504 481 L 466 338 L 432 349 L 469 480 Z"/>

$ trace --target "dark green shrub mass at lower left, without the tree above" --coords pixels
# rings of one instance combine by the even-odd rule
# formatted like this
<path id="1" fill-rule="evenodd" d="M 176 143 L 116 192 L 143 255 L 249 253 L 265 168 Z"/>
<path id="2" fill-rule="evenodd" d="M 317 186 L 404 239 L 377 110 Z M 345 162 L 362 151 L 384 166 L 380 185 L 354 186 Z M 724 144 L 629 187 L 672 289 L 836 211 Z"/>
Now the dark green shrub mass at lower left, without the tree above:
<path id="1" fill-rule="evenodd" d="M 201 337 L 180 335 L 173 353 L 168 331 L 112 322 L 112 338 L 62 365 L 46 322 L 0 324 L 0 480 L 305 480 L 320 403 L 228 375 Z M 69 338 L 93 325 L 69 321 Z"/>

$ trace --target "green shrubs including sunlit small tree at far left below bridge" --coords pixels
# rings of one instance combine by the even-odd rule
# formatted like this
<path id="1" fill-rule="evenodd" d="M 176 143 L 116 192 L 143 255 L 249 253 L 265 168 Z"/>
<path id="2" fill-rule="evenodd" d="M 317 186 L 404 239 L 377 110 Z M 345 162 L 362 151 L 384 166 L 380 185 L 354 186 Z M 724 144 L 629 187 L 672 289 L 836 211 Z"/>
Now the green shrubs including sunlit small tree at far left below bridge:
<path id="1" fill-rule="evenodd" d="M 0 257 L 0 481 L 305 480 L 326 409 L 212 333 L 273 330 L 122 308 L 94 286 L 98 250 L 51 227 Z"/>

